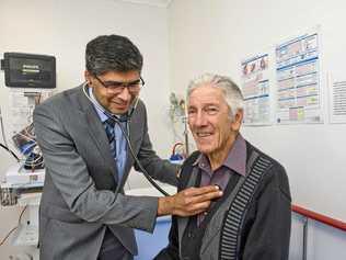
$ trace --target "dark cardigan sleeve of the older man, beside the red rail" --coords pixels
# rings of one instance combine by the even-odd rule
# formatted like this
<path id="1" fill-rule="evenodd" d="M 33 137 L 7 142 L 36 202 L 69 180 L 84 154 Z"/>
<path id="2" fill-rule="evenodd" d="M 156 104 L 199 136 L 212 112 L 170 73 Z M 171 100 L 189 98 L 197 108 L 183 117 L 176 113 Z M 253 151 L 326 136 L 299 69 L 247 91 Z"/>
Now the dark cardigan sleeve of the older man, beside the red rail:
<path id="1" fill-rule="evenodd" d="M 285 169 L 276 166 L 260 190 L 255 217 L 244 248 L 244 260 L 287 260 L 291 228 L 291 199 Z"/>

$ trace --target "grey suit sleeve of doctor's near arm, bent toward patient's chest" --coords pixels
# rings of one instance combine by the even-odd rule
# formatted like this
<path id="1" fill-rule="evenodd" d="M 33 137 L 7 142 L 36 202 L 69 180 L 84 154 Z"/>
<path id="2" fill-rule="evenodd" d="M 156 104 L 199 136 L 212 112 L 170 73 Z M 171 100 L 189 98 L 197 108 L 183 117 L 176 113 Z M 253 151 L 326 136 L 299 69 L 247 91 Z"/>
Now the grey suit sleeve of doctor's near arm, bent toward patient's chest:
<path id="1" fill-rule="evenodd" d="M 34 111 L 34 126 L 46 172 L 70 212 L 86 222 L 117 224 L 152 231 L 158 199 L 126 196 L 97 190 L 73 138 L 65 129 L 60 110 L 61 108 L 53 108 L 50 103 L 37 106 Z M 67 113 L 64 116 L 71 115 Z"/>

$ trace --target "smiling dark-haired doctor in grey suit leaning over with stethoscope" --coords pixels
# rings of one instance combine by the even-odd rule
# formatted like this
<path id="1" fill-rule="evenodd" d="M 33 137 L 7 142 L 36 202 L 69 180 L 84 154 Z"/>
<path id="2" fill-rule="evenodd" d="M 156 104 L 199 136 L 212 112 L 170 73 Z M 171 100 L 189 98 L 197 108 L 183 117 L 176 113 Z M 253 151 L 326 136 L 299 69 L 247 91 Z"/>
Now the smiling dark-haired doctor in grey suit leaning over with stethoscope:
<path id="1" fill-rule="evenodd" d="M 132 259 L 132 228 L 152 231 L 157 216 L 199 214 L 221 195 L 212 185 L 166 197 L 125 195 L 130 168 L 140 171 L 125 133 L 151 177 L 176 184 L 177 168 L 152 150 L 146 106 L 138 98 L 145 84 L 139 49 L 123 36 L 99 36 L 88 43 L 85 61 L 85 83 L 34 112 L 46 166 L 41 260 Z"/>

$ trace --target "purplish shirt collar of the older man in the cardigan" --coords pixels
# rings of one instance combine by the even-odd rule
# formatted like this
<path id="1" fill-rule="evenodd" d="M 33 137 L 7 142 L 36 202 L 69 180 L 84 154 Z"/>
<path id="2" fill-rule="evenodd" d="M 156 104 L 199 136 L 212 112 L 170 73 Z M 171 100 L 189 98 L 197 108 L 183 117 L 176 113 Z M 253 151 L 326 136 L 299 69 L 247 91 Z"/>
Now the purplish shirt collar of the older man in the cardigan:
<path id="1" fill-rule="evenodd" d="M 198 166 L 201 169 L 205 169 L 206 166 L 210 168 L 209 160 L 204 154 L 198 156 L 193 166 Z M 246 142 L 241 134 L 238 134 L 222 166 L 234 170 L 241 176 L 246 174 Z"/>

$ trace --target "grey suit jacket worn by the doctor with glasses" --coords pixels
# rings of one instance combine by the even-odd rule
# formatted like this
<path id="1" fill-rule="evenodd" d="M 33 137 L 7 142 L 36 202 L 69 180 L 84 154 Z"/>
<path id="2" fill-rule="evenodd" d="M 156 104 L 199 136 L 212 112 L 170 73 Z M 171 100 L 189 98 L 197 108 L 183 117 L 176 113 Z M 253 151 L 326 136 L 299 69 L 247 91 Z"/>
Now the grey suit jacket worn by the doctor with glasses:
<path id="1" fill-rule="evenodd" d="M 117 183 L 104 127 L 82 87 L 38 105 L 34 125 L 46 165 L 39 208 L 41 259 L 95 260 L 106 226 L 136 255 L 132 228 L 153 230 L 158 199 L 124 195 L 134 159 L 128 151 L 123 180 Z M 154 179 L 176 184 L 176 168 L 152 150 L 141 101 L 131 116 L 129 134 L 147 171 Z"/>

